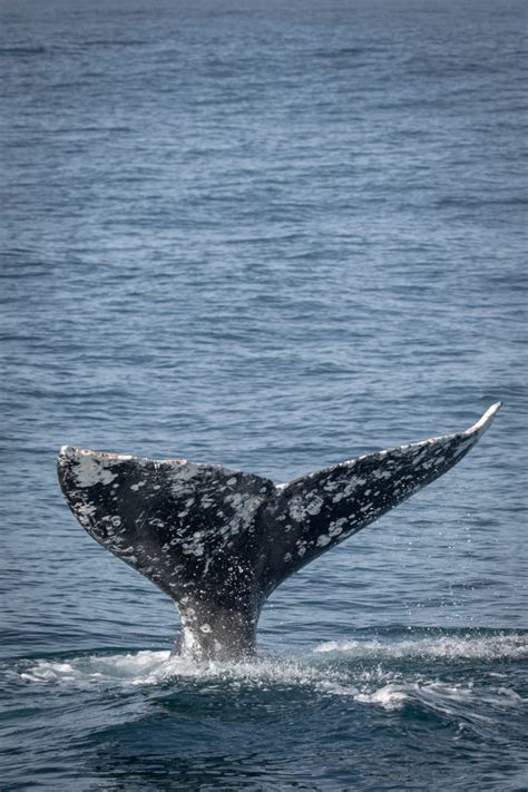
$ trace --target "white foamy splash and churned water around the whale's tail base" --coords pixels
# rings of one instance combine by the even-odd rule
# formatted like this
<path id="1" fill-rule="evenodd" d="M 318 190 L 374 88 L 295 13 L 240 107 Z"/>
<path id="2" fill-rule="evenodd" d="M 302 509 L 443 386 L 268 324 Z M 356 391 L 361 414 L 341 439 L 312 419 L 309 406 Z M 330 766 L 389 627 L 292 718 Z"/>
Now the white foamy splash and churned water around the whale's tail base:
<path id="1" fill-rule="evenodd" d="M 310 654 L 262 656 L 251 662 L 194 663 L 172 657 L 169 652 L 143 651 L 111 655 L 86 655 L 68 659 L 20 663 L 19 681 L 55 684 L 74 690 L 170 685 L 189 686 L 196 693 L 247 690 L 304 691 L 306 695 L 340 697 L 360 706 L 387 712 L 420 708 L 459 722 L 491 723 L 498 711 L 526 702 L 512 688 L 505 673 L 488 668 L 479 681 L 453 675 L 458 659 L 511 661 L 526 657 L 522 634 L 415 637 L 412 639 L 345 641 L 322 644 Z M 402 658 L 410 664 L 397 663 Z M 451 664 L 452 665 L 451 665 Z M 13 669 L 11 669 L 13 671 Z M 480 672 L 479 672 L 480 673 Z M 460 681 L 459 681 L 460 679 Z M 477 708 L 487 714 L 477 714 Z"/>

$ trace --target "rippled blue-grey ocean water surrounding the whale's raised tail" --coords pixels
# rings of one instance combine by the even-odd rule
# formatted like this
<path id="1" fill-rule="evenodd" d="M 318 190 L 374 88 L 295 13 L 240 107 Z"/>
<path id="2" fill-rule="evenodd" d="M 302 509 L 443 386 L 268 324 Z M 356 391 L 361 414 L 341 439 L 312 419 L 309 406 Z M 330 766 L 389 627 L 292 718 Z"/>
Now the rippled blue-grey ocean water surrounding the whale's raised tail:
<path id="1" fill-rule="evenodd" d="M 528 788 L 527 9 L 0 0 L 0 789 Z M 525 61 L 526 62 L 526 61 Z M 62 443 L 285 481 L 479 446 L 169 659 Z"/>

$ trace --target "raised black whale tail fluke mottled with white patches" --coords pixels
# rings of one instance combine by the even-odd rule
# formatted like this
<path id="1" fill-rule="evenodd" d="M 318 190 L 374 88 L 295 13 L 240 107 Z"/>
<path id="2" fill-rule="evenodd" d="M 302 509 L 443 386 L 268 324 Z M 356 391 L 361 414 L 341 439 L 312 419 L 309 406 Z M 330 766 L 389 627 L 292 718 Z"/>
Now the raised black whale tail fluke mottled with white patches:
<path id="1" fill-rule="evenodd" d="M 460 461 L 499 407 L 465 432 L 286 485 L 214 465 L 69 447 L 58 475 L 90 536 L 177 603 L 178 654 L 239 659 L 255 652 L 262 606 L 286 577 Z"/>

